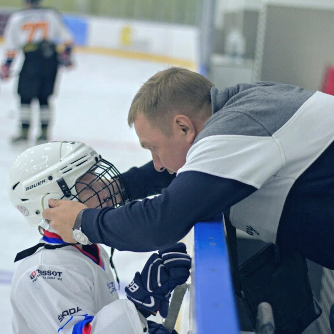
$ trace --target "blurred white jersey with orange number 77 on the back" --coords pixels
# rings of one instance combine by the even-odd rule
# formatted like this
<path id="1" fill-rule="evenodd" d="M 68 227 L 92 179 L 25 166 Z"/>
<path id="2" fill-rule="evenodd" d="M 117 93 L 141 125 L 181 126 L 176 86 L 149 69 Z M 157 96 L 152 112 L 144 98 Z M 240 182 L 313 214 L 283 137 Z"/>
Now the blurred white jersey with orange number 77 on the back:
<path id="1" fill-rule="evenodd" d="M 53 8 L 31 8 L 11 14 L 4 31 L 7 52 L 22 49 L 28 43 L 44 39 L 57 43 L 72 43 L 72 35 Z"/>

